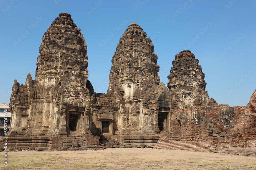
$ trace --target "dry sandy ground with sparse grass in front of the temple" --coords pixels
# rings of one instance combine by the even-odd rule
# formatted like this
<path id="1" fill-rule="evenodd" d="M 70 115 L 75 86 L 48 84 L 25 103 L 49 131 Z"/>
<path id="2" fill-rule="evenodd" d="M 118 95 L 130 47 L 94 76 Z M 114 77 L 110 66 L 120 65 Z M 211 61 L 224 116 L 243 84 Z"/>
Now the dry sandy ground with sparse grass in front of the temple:
<path id="1" fill-rule="evenodd" d="M 97 151 L 8 152 L 0 169 L 253 169 L 256 157 L 178 150 L 108 148 Z"/>

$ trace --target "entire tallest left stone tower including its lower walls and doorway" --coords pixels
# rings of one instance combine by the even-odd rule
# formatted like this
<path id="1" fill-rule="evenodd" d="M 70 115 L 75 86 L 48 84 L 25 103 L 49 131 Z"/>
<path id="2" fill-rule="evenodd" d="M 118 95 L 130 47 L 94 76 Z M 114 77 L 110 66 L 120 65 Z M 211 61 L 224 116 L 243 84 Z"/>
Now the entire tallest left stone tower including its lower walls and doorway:
<path id="1" fill-rule="evenodd" d="M 87 46 L 71 15 L 59 14 L 39 48 L 35 81 L 14 81 L 10 99 L 14 136 L 81 135 L 88 132 L 90 96 Z M 89 132 L 88 132 L 89 133 Z"/>

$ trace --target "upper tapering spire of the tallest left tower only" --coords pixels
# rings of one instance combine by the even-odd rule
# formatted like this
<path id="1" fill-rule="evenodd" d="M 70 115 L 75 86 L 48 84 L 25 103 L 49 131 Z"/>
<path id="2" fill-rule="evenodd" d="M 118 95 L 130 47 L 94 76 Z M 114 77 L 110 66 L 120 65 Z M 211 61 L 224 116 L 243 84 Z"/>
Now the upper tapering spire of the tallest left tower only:
<path id="1" fill-rule="evenodd" d="M 83 34 L 67 12 L 59 14 L 47 29 L 39 48 L 35 80 L 41 85 L 56 85 L 65 74 L 87 83 L 88 56 Z"/>

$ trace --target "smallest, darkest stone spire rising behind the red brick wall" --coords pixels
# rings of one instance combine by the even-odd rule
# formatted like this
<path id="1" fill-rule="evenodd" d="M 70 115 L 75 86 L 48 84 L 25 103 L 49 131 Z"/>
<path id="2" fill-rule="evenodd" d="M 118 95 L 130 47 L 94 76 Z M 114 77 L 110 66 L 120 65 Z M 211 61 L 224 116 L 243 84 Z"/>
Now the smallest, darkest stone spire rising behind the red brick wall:
<path id="1" fill-rule="evenodd" d="M 176 108 L 191 108 L 198 105 L 217 104 L 205 90 L 205 74 L 199 60 L 189 50 L 180 51 L 173 60 L 173 67 L 167 77 L 167 87 L 171 91 Z"/>

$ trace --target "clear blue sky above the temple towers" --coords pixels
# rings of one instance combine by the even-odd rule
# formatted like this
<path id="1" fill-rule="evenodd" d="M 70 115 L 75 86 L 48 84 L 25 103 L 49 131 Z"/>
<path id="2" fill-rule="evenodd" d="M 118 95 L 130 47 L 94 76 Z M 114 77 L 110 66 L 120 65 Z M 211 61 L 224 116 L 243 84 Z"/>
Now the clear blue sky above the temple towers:
<path id="1" fill-rule="evenodd" d="M 175 55 L 189 49 L 219 104 L 246 106 L 256 89 L 254 0 L 1 0 L 0 6 L 0 102 L 9 103 L 15 79 L 25 83 L 28 73 L 34 79 L 42 36 L 61 12 L 81 28 L 96 92 L 106 93 L 116 44 L 132 22 L 151 37 L 164 84 Z"/>

